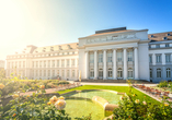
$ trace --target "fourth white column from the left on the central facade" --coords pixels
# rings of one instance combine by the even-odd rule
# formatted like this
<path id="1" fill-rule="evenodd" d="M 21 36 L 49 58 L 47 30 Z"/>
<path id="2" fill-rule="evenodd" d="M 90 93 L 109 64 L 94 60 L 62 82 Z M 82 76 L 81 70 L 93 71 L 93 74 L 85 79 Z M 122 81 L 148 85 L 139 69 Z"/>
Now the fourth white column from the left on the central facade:
<path id="1" fill-rule="evenodd" d="M 117 74 L 116 74 L 116 49 L 113 49 L 113 79 L 117 80 Z"/>

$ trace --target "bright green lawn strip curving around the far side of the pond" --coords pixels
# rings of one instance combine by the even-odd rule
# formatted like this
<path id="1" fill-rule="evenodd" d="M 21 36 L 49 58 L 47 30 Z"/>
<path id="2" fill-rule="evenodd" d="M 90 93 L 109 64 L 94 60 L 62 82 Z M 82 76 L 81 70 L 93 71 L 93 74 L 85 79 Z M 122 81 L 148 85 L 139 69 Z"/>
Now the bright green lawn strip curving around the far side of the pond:
<path id="1" fill-rule="evenodd" d="M 76 89 L 77 91 L 82 91 L 82 89 L 111 89 L 111 91 L 116 91 L 116 92 L 122 92 L 122 93 L 128 94 L 129 87 L 128 86 L 83 85 L 83 86 L 79 86 L 79 87 L 76 87 L 76 88 L 60 91 L 60 92 L 57 92 L 57 93 L 65 94 L 65 93 L 76 91 Z M 148 95 L 146 95 L 146 94 L 144 94 L 144 93 L 141 93 L 141 92 L 135 89 L 135 88 L 133 88 L 133 93 L 135 93 L 137 95 L 137 98 L 140 99 L 141 101 L 146 100 L 146 101 L 150 101 L 150 103 L 153 103 L 153 104 L 160 104 L 156 99 L 149 97 Z M 146 96 L 146 97 L 144 97 L 144 96 Z"/>

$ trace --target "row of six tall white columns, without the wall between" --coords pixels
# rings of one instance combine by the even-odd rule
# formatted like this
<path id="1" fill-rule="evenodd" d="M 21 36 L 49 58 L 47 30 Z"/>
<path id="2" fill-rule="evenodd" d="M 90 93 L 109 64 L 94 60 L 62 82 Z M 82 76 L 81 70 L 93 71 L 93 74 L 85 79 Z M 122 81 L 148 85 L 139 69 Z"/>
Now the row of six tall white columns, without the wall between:
<path id="1" fill-rule="evenodd" d="M 103 80 L 107 80 L 107 57 L 106 53 L 107 49 L 103 50 Z M 134 48 L 134 70 L 135 75 L 134 79 L 138 80 L 138 48 Z M 113 80 L 117 80 L 117 48 L 113 49 Z M 127 48 L 123 48 L 123 79 L 127 80 Z M 96 80 L 99 77 L 98 74 L 98 50 L 94 50 L 94 79 Z M 89 79 L 89 50 L 85 51 L 85 79 Z"/>

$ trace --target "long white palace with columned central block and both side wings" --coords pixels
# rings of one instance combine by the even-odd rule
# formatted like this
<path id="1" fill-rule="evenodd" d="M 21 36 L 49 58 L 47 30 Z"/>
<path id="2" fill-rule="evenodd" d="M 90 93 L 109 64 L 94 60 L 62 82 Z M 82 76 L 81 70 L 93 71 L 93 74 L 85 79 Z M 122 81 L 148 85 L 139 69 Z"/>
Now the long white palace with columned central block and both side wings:
<path id="1" fill-rule="evenodd" d="M 28 79 L 172 80 L 172 32 L 148 35 L 126 27 L 96 31 L 79 43 L 27 46 L 7 57 L 7 76 Z"/>

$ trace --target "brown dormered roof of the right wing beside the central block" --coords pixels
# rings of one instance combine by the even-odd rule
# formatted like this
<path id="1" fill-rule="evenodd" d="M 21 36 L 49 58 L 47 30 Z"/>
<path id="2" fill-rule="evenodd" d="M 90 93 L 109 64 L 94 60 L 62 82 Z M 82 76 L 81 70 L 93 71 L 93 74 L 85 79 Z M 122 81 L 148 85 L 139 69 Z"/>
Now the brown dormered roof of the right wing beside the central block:
<path id="1" fill-rule="evenodd" d="M 165 39 L 164 39 L 165 37 Z M 148 34 L 148 38 L 152 41 L 172 40 L 172 32 Z"/>

